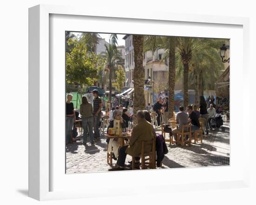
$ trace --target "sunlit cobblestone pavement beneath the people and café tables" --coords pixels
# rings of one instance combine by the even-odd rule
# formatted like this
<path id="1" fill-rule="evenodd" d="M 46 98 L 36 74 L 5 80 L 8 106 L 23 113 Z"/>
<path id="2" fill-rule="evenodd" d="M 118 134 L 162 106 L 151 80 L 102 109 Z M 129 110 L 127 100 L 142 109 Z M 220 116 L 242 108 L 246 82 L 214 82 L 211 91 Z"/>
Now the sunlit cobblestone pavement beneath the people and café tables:
<path id="1" fill-rule="evenodd" d="M 225 123 L 225 127 L 227 129 L 224 132 L 221 129 L 220 131 L 210 131 L 208 136 L 203 137 L 202 144 L 192 143 L 190 147 L 188 145 L 181 147 L 169 145 L 167 142 L 168 154 L 162 161 L 162 167 L 157 168 L 229 165 L 229 123 Z M 87 146 L 84 146 L 82 141 L 68 144 L 66 148 L 66 173 L 108 171 L 111 167 L 107 164 L 105 148 L 107 148 L 107 143 L 103 136 L 94 145 L 88 143 Z M 129 160 L 131 157 L 127 155 L 127 164 Z M 115 162 L 113 160 L 113 165 Z"/>

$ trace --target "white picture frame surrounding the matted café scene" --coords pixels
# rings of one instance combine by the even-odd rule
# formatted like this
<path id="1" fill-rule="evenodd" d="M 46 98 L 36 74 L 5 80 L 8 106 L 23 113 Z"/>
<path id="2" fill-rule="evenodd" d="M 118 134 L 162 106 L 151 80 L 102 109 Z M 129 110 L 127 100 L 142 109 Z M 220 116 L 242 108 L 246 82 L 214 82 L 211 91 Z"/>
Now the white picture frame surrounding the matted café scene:
<path id="1" fill-rule="evenodd" d="M 248 51 L 249 51 L 249 19 L 241 18 L 241 17 L 222 17 L 222 16 L 210 16 L 210 15 L 194 15 L 194 14 L 175 14 L 175 13 L 138 13 L 136 11 L 130 11 L 129 13 L 124 13 L 121 11 L 104 11 L 96 8 L 90 8 L 88 10 L 84 10 L 83 8 L 71 7 L 71 6 L 53 6 L 53 5 L 38 5 L 29 8 L 29 197 L 37 199 L 37 200 L 54 200 L 54 199 L 74 199 L 74 198 L 87 198 L 87 197 L 97 197 L 99 192 L 95 192 L 95 187 L 92 188 L 91 191 L 88 190 L 51 190 L 51 182 L 54 180 L 51 175 L 52 171 L 52 160 L 50 158 L 50 151 L 52 149 L 52 144 L 50 141 L 50 132 L 51 132 L 51 123 L 52 118 L 50 118 L 49 113 L 51 112 L 51 72 L 49 70 L 50 62 L 49 56 L 50 53 L 50 15 L 72 15 L 72 18 L 81 18 L 81 17 L 106 17 L 113 19 L 126 19 L 126 21 L 134 21 L 134 20 L 148 20 L 149 21 L 157 21 L 161 22 L 175 22 L 178 23 L 186 23 L 189 24 L 198 24 L 201 26 L 208 25 L 221 25 L 222 28 L 226 26 L 240 26 L 243 32 L 243 42 L 240 42 L 243 49 L 243 57 L 239 59 L 235 59 L 235 51 L 230 52 L 230 61 L 234 59 L 234 62 L 237 60 L 237 63 L 243 67 L 241 71 L 243 74 L 243 79 L 249 75 L 249 64 L 248 64 Z M 71 16 L 70 16 L 71 17 Z M 114 31 L 113 31 L 114 32 Z M 225 38 L 225 35 L 222 35 Z M 232 48 L 232 39 L 230 48 Z M 233 47 L 234 48 L 234 47 Z M 240 51 L 239 51 L 240 52 Z M 241 52 L 240 52 L 241 53 Z M 231 66 L 230 66 L 231 67 Z M 232 69 L 235 68 L 236 65 L 232 64 L 231 68 L 231 79 L 230 84 L 232 85 Z M 235 72 L 234 72 L 235 73 Z M 239 73 L 238 73 L 239 74 Z M 241 74 L 241 73 L 240 73 Z M 235 75 L 234 75 L 235 76 Z M 234 77 L 235 79 L 235 77 Z M 233 81 L 235 82 L 235 81 Z M 243 95 L 249 96 L 249 82 L 244 81 L 243 87 L 240 88 L 239 91 L 243 92 Z M 232 91 L 232 89 L 231 89 Z M 231 93 L 232 99 L 232 93 Z M 242 98 L 243 103 L 245 103 L 245 98 Z M 63 99 L 61 99 L 63 100 Z M 248 97 L 247 99 L 248 100 Z M 232 100 L 230 100 L 232 102 Z M 233 102 L 232 102 L 233 103 Z M 232 105 L 231 103 L 231 105 Z M 232 109 L 232 106 L 231 106 Z M 244 110 L 244 107 L 241 108 Z M 243 120 L 243 127 L 245 128 L 245 119 L 249 119 L 249 114 L 246 112 L 242 112 L 243 115 L 240 116 Z M 230 133 L 232 133 L 233 128 L 236 127 L 236 122 L 233 121 L 236 116 L 230 115 L 230 122 L 234 123 L 230 127 Z M 241 130 L 242 136 L 249 136 L 249 129 Z M 236 133 L 232 133 L 232 135 L 236 135 Z M 64 135 L 63 135 L 64 136 Z M 64 138 L 64 137 L 63 137 Z M 211 172 L 228 173 L 232 170 L 232 157 L 237 157 L 237 151 L 233 152 L 233 142 L 235 147 L 235 139 L 231 140 L 231 165 L 229 167 L 214 167 L 207 168 Z M 242 143 L 243 144 L 243 143 Z M 219 188 L 232 188 L 232 187 L 248 187 L 249 186 L 249 149 L 246 149 L 244 146 L 241 147 L 242 153 L 241 158 L 243 158 L 243 163 L 241 162 L 242 168 L 239 169 L 238 174 L 233 178 L 225 180 L 223 177 L 212 177 L 211 182 L 204 182 L 203 180 L 199 180 L 198 182 L 186 182 L 185 180 L 175 181 L 175 187 L 170 186 L 172 183 L 166 179 L 165 182 L 161 182 L 159 184 L 155 184 L 157 189 L 151 189 L 152 183 L 149 184 L 140 184 L 136 185 L 133 189 L 127 189 L 125 195 L 137 194 L 141 192 L 141 187 L 143 187 L 143 191 L 141 193 L 155 193 L 155 192 L 172 192 L 172 191 L 185 191 L 191 190 L 205 190 L 205 189 L 219 189 Z M 240 160 L 241 158 L 237 158 Z M 233 163 L 234 167 L 236 167 L 236 163 Z M 231 168 L 230 168 L 231 167 Z M 63 167 L 62 167 L 63 168 Z M 173 172 L 173 174 L 188 174 L 189 172 L 198 172 L 198 170 L 204 170 L 205 168 L 197 168 L 194 170 L 191 169 L 168 169 L 162 171 L 163 174 L 169 174 Z M 189 171 L 188 171 L 189 170 Z M 149 172 L 148 172 L 149 171 Z M 147 173 L 155 174 L 155 172 L 159 172 L 160 170 L 148 170 Z M 233 170 L 232 170 L 233 171 Z M 168 173 L 167 173 L 168 172 Z M 208 172 L 208 170 L 207 170 Z M 90 177 L 97 177 L 98 179 L 105 180 L 105 177 L 109 175 L 109 177 L 115 176 L 123 177 L 123 174 L 129 174 L 131 178 L 141 179 L 143 175 L 146 175 L 144 171 L 138 172 L 112 172 L 112 173 L 88 173 Z M 63 174 L 63 173 L 60 173 Z M 84 174 L 88 176 L 88 174 Z M 72 178 L 77 176 L 68 176 L 68 178 Z M 80 176 L 82 178 L 82 176 Z M 103 184 L 106 182 L 102 183 Z M 110 187 L 109 187 L 110 186 Z M 114 185 L 112 185 L 114 186 Z M 108 185 L 109 189 L 112 189 L 111 185 Z M 128 186 L 129 187 L 129 186 Z M 101 196 L 120 196 L 124 195 L 121 190 L 116 190 L 115 193 L 108 193 L 105 191 L 105 188 L 101 188 Z M 105 192 L 105 193 L 104 193 Z"/>

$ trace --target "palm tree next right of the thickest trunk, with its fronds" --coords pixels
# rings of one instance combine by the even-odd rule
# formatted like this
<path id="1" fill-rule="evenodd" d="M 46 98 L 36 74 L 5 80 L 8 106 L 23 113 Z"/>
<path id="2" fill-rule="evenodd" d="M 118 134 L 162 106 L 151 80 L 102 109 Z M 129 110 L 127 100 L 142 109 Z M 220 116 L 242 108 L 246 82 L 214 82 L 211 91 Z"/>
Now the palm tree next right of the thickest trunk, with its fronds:
<path id="1" fill-rule="evenodd" d="M 168 58 L 168 118 L 172 117 L 175 107 L 175 47 L 176 47 L 176 37 L 171 36 L 145 36 L 145 46 L 144 50 L 155 50 L 163 48 L 165 49 L 165 54 L 163 59 Z"/>

